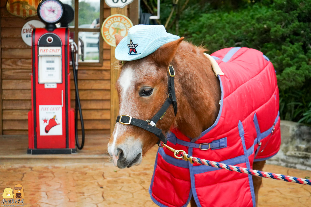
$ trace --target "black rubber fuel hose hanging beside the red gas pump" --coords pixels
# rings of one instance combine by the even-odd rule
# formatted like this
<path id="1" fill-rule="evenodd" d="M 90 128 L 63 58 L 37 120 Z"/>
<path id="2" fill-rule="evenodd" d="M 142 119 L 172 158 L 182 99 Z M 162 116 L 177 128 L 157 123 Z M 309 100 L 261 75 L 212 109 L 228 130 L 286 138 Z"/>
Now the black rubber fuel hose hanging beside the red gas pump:
<path id="1" fill-rule="evenodd" d="M 79 150 L 81 150 L 83 148 L 83 146 L 84 146 L 84 138 L 85 138 L 84 137 L 84 122 L 83 122 L 81 103 L 80 103 L 80 97 L 79 97 L 79 90 L 78 90 L 78 70 L 76 70 L 75 55 L 74 55 L 73 51 L 71 51 L 71 59 L 72 59 L 73 79 L 74 79 L 75 88 L 76 88 L 75 137 L 76 137 L 77 148 Z M 79 144 L 79 140 L 78 140 L 78 108 L 79 108 L 80 121 L 81 121 L 81 132 L 82 132 L 82 142 L 81 142 L 81 145 Z"/>

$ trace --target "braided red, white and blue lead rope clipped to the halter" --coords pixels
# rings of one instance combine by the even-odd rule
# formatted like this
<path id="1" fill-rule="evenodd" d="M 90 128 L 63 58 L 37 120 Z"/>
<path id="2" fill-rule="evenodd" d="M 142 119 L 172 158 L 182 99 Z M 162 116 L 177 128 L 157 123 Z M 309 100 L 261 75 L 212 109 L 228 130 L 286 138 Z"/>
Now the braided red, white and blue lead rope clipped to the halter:
<path id="1" fill-rule="evenodd" d="M 183 155 L 185 155 L 185 153 L 180 152 L 180 155 L 183 156 Z M 187 155 L 187 156 L 189 156 L 189 155 Z M 311 180 L 305 179 L 305 178 L 296 178 L 296 177 L 281 175 L 281 174 L 276 174 L 276 173 L 267 173 L 267 172 L 263 172 L 263 171 L 259 171 L 259 170 L 247 169 L 247 168 L 242 168 L 242 167 L 224 164 L 224 163 L 220 163 L 220 162 L 204 160 L 204 159 L 200 159 L 197 157 L 193 157 L 192 161 L 197 163 L 197 164 L 202 164 L 202 165 L 204 164 L 204 165 L 208 165 L 208 166 L 211 166 L 214 168 L 220 168 L 220 169 L 225 169 L 225 170 L 234 171 L 234 172 L 238 172 L 238 173 L 245 173 L 245 174 L 249 174 L 249 175 L 254 175 L 254 176 L 262 177 L 262 178 L 272 178 L 275 180 L 283 180 L 286 182 L 295 182 L 295 183 L 311 186 Z"/>

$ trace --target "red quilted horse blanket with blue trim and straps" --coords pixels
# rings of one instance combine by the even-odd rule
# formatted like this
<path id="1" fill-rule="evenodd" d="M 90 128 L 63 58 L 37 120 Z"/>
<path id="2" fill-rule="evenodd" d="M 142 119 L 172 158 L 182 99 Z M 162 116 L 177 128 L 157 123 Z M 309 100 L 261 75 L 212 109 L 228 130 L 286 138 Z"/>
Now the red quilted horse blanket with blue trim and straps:
<path id="1" fill-rule="evenodd" d="M 275 155 L 281 144 L 275 70 L 262 52 L 246 47 L 211 56 L 225 73 L 218 75 L 218 117 L 192 140 L 171 130 L 168 145 L 191 156 L 252 168 L 254 161 Z M 159 206 L 187 206 L 192 196 L 199 207 L 255 206 L 251 175 L 178 160 L 165 147 L 158 150 L 149 193 Z"/>

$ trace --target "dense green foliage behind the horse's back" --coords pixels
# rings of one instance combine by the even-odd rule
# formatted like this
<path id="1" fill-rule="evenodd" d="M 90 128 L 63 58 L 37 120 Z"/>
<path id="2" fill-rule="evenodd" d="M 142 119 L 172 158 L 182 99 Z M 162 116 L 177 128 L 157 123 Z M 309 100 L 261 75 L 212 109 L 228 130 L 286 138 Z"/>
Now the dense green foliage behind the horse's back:
<path id="1" fill-rule="evenodd" d="M 189 5 L 179 19 L 179 36 L 210 53 L 225 47 L 260 50 L 276 70 L 281 119 L 311 123 L 311 1 L 243 1 L 231 9 Z M 169 32 L 176 33 L 174 26 Z"/>

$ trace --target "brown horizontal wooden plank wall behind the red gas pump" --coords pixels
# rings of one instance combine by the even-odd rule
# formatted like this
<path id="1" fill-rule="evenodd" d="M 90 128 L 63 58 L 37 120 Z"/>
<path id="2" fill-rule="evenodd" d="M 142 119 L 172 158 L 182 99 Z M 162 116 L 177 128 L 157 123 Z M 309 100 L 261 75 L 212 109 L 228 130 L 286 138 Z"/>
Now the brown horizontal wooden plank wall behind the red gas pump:
<path id="1" fill-rule="evenodd" d="M 1 72 L 3 134 L 27 134 L 27 113 L 31 109 L 31 47 L 21 38 L 24 20 L 7 12 L 1 0 Z M 104 19 L 110 7 L 104 4 Z M 79 65 L 79 92 L 87 134 L 110 133 L 110 46 L 103 41 L 103 64 Z M 71 106 L 74 83 L 71 76 Z M 1 105 L 0 105 L 1 106 Z M 1 112 L 0 112 L 1 114 Z M 79 124 L 80 128 L 80 124 Z"/>

